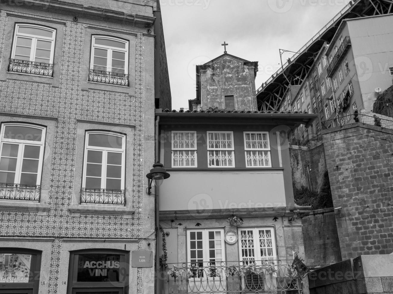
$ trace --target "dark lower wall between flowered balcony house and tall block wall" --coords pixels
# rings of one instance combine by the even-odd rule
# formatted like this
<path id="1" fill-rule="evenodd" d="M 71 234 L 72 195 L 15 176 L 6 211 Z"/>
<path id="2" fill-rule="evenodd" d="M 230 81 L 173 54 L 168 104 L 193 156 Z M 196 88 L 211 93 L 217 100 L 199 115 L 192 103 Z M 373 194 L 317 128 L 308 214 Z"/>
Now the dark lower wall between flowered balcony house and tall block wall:
<path id="1" fill-rule="evenodd" d="M 341 261 L 340 242 L 333 208 L 311 211 L 301 220 L 307 267 Z"/>

